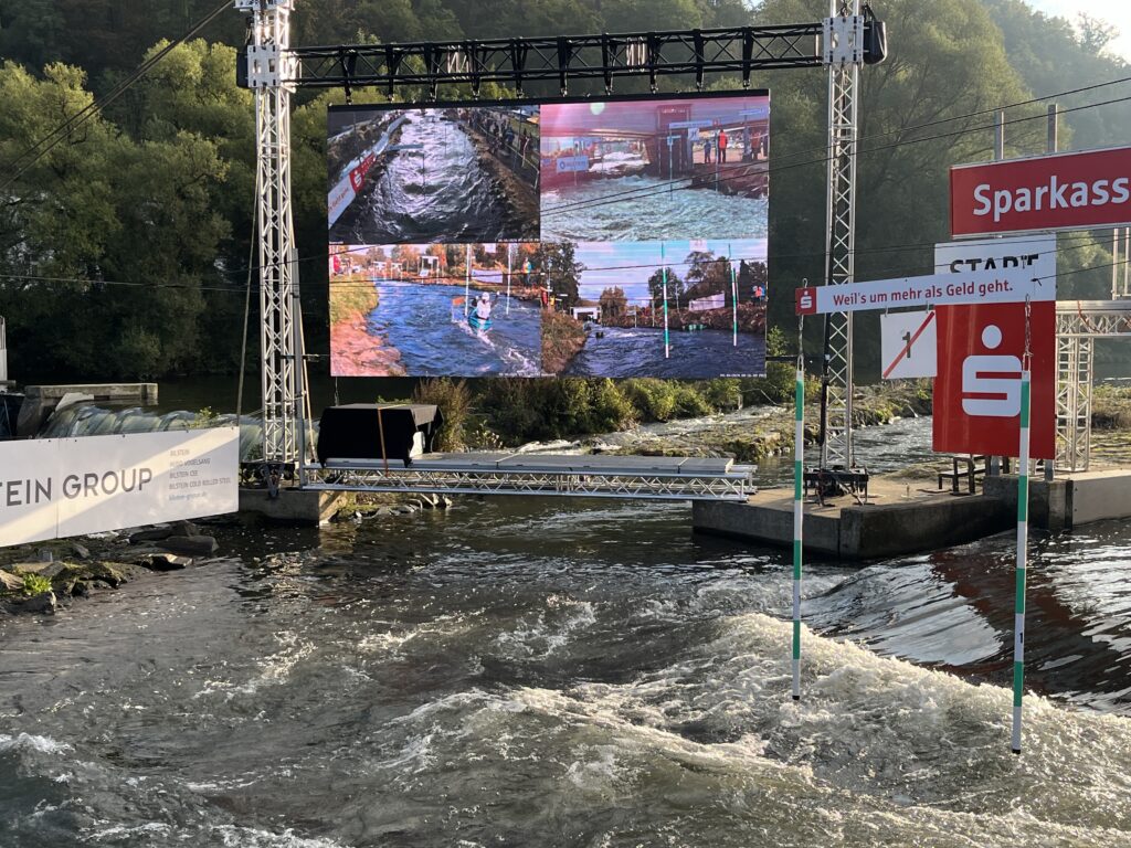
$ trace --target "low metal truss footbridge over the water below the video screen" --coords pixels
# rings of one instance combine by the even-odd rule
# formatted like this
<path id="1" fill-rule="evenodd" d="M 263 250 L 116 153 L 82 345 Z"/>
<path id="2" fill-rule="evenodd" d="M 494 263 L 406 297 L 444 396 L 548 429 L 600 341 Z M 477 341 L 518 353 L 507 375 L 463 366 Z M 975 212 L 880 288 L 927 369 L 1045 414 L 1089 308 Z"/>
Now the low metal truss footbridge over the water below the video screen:
<path id="1" fill-rule="evenodd" d="M 556 495 L 653 501 L 745 501 L 757 466 L 689 457 L 547 456 L 508 451 L 425 453 L 400 460 L 331 459 L 301 468 L 302 487 L 327 492 Z"/>

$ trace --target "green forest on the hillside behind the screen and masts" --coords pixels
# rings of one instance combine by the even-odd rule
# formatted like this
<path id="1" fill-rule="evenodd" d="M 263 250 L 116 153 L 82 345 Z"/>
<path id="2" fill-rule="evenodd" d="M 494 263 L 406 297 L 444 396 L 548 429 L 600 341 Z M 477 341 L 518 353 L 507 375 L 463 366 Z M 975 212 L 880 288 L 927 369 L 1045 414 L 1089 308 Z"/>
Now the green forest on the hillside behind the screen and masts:
<path id="1" fill-rule="evenodd" d="M 241 16 L 219 15 L 50 153 L 34 163 L 27 155 L 216 7 L 0 0 L 0 184 L 20 172 L 0 191 L 0 315 L 12 373 L 138 379 L 239 367 L 254 188 L 252 99 L 234 73 Z M 1009 156 L 1044 150 L 1053 101 L 1064 111 L 1063 149 L 1131 137 L 1131 67 L 1105 50 L 1113 31 L 1103 21 L 1081 17 L 1073 26 L 1020 0 L 873 7 L 890 52 L 862 72 L 857 278 L 930 270 L 933 243 L 948 237 L 948 167 L 990 157 L 993 110 L 1008 107 Z M 293 43 L 803 23 L 826 9 L 818 0 L 323 0 L 297 3 Z M 774 71 L 752 84 L 772 94 L 771 323 L 788 327 L 786 293 L 823 276 L 827 77 Z M 661 80 L 661 90 L 691 87 Z M 708 87 L 740 84 L 715 78 Z M 645 89 L 644 80 L 618 85 Z M 1050 95 L 1059 96 L 1035 99 Z M 326 110 L 343 102 L 342 92 L 301 92 L 292 127 L 313 351 L 325 349 L 328 323 Z M 1106 296 L 1110 235 L 1061 240 L 1062 293 Z M 869 320 L 857 332 L 858 349 L 874 345 Z"/>

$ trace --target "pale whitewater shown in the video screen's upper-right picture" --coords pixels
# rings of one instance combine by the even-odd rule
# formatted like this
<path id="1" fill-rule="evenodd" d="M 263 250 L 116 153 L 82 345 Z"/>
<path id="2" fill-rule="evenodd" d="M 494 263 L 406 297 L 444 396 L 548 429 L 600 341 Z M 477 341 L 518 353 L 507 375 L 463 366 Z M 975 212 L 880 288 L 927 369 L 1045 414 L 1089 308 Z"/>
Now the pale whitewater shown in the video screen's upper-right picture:
<path id="1" fill-rule="evenodd" d="M 655 176 L 593 180 L 542 196 L 543 241 L 658 241 L 688 235 L 765 239 L 766 198 L 671 190 Z"/>

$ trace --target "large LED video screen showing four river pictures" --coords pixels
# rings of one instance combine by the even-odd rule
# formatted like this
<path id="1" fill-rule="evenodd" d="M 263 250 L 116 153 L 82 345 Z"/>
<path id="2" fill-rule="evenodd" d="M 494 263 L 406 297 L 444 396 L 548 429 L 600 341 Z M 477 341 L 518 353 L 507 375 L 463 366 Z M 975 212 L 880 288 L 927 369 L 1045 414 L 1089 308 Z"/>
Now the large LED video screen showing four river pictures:
<path id="1" fill-rule="evenodd" d="M 765 374 L 769 95 L 331 107 L 337 377 Z"/>

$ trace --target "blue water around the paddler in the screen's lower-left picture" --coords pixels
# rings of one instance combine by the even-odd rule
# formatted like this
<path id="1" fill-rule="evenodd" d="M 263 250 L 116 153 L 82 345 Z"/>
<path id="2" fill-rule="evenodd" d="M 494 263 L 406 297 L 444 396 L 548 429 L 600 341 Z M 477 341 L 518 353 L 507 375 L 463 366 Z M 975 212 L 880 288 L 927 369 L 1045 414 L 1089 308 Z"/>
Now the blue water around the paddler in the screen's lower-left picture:
<path id="1" fill-rule="evenodd" d="M 406 373 L 413 375 L 484 377 L 542 373 L 542 310 L 537 303 L 495 301 L 492 327 L 473 330 L 464 320 L 464 286 L 378 283 L 380 305 L 368 319 L 369 332 L 388 339 L 400 352 Z M 474 285 L 470 295 L 478 291 Z"/>

